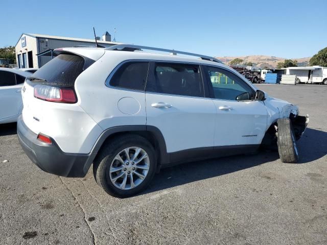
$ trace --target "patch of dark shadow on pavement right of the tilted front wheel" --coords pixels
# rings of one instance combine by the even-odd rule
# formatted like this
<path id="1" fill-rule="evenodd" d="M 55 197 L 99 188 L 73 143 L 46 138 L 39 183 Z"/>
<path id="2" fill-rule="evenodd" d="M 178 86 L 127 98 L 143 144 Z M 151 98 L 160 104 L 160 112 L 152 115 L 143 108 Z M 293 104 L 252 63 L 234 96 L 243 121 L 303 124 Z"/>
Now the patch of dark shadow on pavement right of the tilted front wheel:
<path id="1" fill-rule="evenodd" d="M 298 141 L 300 160 L 307 163 L 327 155 L 327 132 L 307 128 Z"/>

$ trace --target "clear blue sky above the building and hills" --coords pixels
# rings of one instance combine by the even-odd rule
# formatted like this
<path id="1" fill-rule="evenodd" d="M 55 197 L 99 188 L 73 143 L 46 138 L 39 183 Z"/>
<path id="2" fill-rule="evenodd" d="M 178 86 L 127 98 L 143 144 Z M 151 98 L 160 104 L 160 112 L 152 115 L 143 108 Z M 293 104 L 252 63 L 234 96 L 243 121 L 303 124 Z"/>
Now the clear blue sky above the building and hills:
<path id="1" fill-rule="evenodd" d="M 210 56 L 309 57 L 327 46 L 327 0 L 3 1 L 0 47 L 20 34 L 116 40 Z"/>

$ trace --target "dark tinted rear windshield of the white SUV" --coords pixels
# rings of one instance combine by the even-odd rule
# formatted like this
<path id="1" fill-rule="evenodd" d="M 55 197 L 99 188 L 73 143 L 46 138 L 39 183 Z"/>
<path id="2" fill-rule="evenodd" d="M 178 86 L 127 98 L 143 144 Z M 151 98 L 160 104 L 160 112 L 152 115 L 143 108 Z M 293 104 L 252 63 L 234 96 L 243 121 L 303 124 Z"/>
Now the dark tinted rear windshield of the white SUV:
<path id="1" fill-rule="evenodd" d="M 58 55 L 29 77 L 32 83 L 74 86 L 76 78 L 82 73 L 83 57 L 71 54 Z M 44 81 L 45 80 L 45 81 Z"/>

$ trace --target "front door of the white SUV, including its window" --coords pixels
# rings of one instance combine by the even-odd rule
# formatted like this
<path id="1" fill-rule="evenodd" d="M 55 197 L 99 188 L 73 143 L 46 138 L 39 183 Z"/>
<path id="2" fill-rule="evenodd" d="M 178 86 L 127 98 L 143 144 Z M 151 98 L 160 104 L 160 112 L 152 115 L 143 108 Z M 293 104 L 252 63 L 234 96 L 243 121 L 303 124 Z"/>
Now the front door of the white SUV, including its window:
<path id="1" fill-rule="evenodd" d="M 238 74 L 215 66 L 204 70 L 217 110 L 216 148 L 259 145 L 267 128 L 264 102 L 254 100 L 255 91 Z"/>

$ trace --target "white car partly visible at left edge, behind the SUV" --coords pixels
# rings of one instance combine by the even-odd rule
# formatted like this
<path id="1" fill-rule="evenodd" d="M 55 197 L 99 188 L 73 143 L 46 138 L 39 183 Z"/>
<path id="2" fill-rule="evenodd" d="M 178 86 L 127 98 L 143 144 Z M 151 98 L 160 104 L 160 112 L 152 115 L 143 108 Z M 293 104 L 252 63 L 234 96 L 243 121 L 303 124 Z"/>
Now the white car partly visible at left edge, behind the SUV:
<path id="1" fill-rule="evenodd" d="M 13 68 L 0 68 L 0 124 L 17 121 L 22 110 L 20 90 L 32 74 Z"/>

